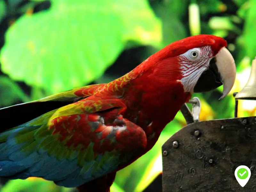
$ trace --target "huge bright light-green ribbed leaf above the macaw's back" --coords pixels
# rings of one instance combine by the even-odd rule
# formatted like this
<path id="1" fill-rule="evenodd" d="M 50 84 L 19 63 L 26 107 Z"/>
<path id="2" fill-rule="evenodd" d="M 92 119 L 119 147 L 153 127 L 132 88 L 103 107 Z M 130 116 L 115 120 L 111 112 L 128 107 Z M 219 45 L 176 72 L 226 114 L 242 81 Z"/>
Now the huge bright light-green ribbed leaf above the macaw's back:
<path id="1" fill-rule="evenodd" d="M 158 45 L 161 23 L 146 0 L 52 0 L 6 33 L 2 71 L 53 93 L 99 78 L 128 41 Z"/>

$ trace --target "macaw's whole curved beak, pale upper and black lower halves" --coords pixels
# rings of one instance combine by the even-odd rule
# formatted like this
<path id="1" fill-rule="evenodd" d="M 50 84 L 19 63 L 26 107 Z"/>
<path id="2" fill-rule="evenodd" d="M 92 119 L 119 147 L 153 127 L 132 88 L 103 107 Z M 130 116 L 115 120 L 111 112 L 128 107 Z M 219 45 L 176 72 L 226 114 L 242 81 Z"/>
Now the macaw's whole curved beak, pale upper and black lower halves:
<path id="1" fill-rule="evenodd" d="M 231 91 L 236 79 L 235 60 L 227 48 L 223 47 L 210 61 L 209 68 L 199 77 L 194 92 L 211 91 L 223 84 L 224 98 Z"/>

